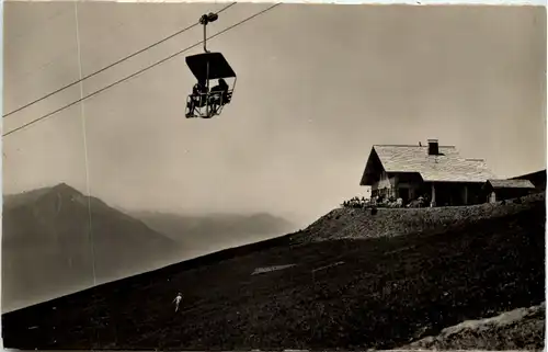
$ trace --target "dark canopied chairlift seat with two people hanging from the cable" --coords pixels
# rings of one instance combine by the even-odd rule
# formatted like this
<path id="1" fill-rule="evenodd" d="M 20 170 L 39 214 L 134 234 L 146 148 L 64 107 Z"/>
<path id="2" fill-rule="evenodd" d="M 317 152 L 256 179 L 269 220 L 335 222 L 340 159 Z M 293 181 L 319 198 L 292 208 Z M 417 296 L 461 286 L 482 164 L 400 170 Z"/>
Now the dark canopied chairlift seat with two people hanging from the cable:
<path id="1" fill-rule="evenodd" d="M 186 117 L 210 118 L 219 115 L 222 107 L 232 100 L 236 72 L 220 53 L 187 56 L 186 65 L 197 79 L 186 99 Z M 233 79 L 231 87 L 227 79 Z"/>

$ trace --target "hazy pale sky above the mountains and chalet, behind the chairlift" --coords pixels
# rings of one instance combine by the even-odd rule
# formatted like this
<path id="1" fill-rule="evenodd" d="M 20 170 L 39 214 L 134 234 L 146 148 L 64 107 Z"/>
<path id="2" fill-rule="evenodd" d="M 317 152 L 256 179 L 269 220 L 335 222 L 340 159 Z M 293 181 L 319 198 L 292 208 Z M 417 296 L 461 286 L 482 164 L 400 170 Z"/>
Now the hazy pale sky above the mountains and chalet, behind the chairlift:
<path id="1" fill-rule="evenodd" d="M 89 75 L 217 4 L 78 4 Z M 237 4 L 225 29 L 269 4 Z M 73 2 L 4 3 L 4 113 L 79 79 Z M 202 38 L 195 27 L 84 81 L 84 94 Z M 373 144 L 437 137 L 500 177 L 546 167 L 543 7 L 283 4 L 209 42 L 238 77 L 220 118 L 186 120 L 184 55 L 3 139 L 4 192 L 59 182 L 128 208 L 269 211 L 306 222 L 358 186 Z M 187 55 L 199 53 L 196 47 Z M 80 98 L 75 86 L 8 132 Z"/>

